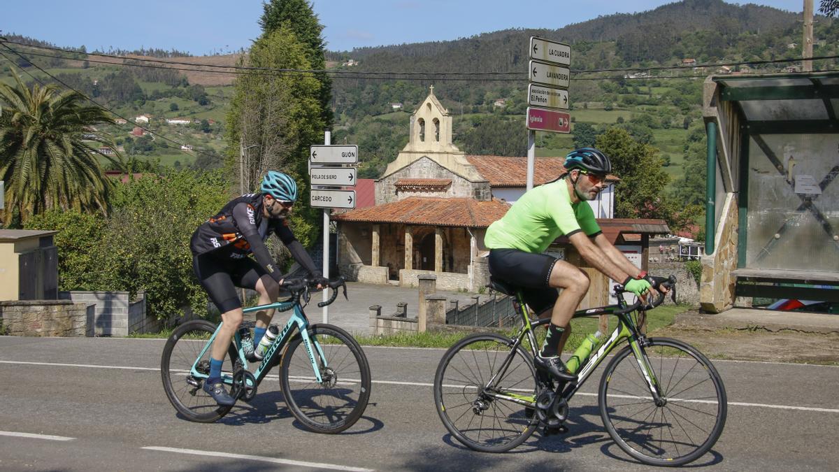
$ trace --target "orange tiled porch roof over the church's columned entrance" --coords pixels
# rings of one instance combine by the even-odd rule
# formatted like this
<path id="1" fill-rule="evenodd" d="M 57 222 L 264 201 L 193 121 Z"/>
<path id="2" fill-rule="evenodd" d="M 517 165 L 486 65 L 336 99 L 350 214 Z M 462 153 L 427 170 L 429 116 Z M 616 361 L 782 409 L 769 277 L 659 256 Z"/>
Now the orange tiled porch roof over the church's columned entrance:
<path id="1" fill-rule="evenodd" d="M 498 200 L 480 202 L 473 198 L 410 197 L 375 207 L 357 208 L 352 212 L 335 215 L 333 219 L 487 228 L 503 217 L 509 207 L 507 203 Z"/>

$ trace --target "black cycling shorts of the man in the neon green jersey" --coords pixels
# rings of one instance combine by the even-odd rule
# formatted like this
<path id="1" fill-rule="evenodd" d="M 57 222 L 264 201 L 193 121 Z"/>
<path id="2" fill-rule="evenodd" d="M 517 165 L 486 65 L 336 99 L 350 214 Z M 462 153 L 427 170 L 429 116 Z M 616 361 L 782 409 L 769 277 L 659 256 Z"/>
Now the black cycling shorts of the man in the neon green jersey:
<path id="1" fill-rule="evenodd" d="M 549 284 L 556 258 L 519 249 L 490 249 L 489 273 L 522 291 L 524 302 L 540 315 L 554 307 L 560 296 Z"/>

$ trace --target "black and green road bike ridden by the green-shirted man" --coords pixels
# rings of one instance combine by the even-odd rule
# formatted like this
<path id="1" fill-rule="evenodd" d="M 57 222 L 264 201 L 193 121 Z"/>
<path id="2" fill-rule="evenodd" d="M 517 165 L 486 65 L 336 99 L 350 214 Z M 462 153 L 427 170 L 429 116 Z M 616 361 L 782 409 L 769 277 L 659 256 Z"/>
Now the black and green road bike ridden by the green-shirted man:
<path id="1" fill-rule="evenodd" d="M 675 299 L 675 277 L 664 281 Z M 623 344 L 608 362 L 597 391 L 597 405 L 607 433 L 634 459 L 648 465 L 680 466 L 706 454 L 722 433 L 727 397 L 711 361 L 688 344 L 648 338 L 638 327 L 650 305 L 623 300 L 581 310 L 574 317 L 612 315 L 617 328 L 587 359 L 581 359 L 576 383 L 556 382 L 537 372 L 534 329 L 550 318 L 529 317 L 521 291 L 498 281 L 491 286 L 513 296 L 522 327 L 513 337 L 496 333 L 466 336 L 451 347 L 437 367 L 434 400 L 449 433 L 468 448 L 508 451 L 529 438 L 539 425 L 564 428 L 568 404 L 597 366 Z"/>

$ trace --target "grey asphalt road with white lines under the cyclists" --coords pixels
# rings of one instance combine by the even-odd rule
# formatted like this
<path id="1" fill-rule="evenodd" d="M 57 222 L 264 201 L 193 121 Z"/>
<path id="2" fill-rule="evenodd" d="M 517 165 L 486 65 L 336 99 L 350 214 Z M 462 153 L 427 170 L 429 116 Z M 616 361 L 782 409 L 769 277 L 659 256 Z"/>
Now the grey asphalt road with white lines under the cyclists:
<path id="1" fill-rule="evenodd" d="M 365 348 L 371 403 L 345 433 L 300 429 L 270 375 L 252 405 L 213 424 L 187 422 L 159 375 L 164 340 L 0 337 L 2 470 L 648 469 L 602 427 L 589 381 L 565 435 L 534 434 L 506 454 L 456 443 L 432 403 L 440 349 Z M 839 367 L 716 360 L 728 420 L 716 470 L 836 470 Z M 599 380 L 599 373 L 592 380 Z"/>

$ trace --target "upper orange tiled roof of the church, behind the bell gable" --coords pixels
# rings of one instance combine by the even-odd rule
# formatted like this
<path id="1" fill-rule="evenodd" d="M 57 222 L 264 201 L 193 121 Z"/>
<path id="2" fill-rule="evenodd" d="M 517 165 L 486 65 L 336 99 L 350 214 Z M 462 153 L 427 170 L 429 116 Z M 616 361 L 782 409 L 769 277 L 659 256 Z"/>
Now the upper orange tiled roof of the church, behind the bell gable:
<path id="1" fill-rule="evenodd" d="M 466 160 L 489 181 L 490 186 L 527 186 L 527 158 L 503 155 L 467 155 Z M 564 157 L 539 157 L 534 163 L 534 185 L 555 181 L 565 173 Z M 617 176 L 608 176 L 619 181 Z"/>

